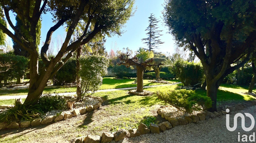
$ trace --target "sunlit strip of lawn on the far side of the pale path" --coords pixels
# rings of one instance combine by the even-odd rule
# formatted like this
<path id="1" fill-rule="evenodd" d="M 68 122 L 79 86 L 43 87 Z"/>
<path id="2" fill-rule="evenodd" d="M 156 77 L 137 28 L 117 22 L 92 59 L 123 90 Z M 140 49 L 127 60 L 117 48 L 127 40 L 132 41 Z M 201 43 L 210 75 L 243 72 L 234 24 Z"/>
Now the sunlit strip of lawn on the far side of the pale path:
<path id="1" fill-rule="evenodd" d="M 150 83 L 149 80 L 145 79 L 144 86 L 149 85 L 160 85 L 159 83 Z M 167 80 L 170 83 L 179 82 L 179 80 Z M 113 77 L 103 78 L 102 85 L 100 90 L 105 89 L 119 89 L 119 88 L 131 88 L 136 87 L 137 84 L 131 84 L 134 82 L 134 79 L 115 79 Z M 66 93 L 66 92 L 76 92 L 76 87 L 73 88 L 45 88 L 43 93 Z M 1 90 L 1 95 L 26 95 L 28 94 L 28 90 Z"/>

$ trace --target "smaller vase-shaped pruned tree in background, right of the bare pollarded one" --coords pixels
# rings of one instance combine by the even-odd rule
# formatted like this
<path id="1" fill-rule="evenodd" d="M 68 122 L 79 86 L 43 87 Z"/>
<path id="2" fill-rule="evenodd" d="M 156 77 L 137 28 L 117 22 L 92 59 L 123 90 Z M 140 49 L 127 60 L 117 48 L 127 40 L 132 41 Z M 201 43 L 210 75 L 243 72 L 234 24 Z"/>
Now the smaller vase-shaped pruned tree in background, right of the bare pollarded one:
<path id="1" fill-rule="evenodd" d="M 153 65 L 157 65 L 157 66 L 152 66 L 152 68 L 154 69 L 154 72 L 156 74 L 156 80 L 160 79 L 160 70 L 163 67 L 163 63 L 166 61 L 166 59 L 165 58 L 151 58 L 151 59 L 147 59 L 146 62 L 148 60 L 151 60 L 151 63 Z"/>

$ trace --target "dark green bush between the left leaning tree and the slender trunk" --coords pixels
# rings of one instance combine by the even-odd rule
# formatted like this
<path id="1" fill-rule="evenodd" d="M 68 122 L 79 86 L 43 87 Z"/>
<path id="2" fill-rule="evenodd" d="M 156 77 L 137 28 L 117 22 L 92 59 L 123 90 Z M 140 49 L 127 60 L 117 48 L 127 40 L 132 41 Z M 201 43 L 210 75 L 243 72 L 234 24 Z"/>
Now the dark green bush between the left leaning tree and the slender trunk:
<path id="1" fill-rule="evenodd" d="M 53 77 L 53 85 L 64 85 L 75 82 L 76 60 L 69 59 Z"/>

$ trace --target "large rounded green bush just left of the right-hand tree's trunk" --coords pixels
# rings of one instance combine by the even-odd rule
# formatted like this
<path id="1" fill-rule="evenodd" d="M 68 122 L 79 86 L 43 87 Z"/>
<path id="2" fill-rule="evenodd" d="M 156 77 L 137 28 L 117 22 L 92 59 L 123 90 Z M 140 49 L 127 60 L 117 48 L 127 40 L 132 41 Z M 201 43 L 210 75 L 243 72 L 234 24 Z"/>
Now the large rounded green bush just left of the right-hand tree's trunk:
<path id="1" fill-rule="evenodd" d="M 196 85 L 204 81 L 204 70 L 200 63 L 177 61 L 174 63 L 177 68 L 177 77 L 184 86 Z"/>

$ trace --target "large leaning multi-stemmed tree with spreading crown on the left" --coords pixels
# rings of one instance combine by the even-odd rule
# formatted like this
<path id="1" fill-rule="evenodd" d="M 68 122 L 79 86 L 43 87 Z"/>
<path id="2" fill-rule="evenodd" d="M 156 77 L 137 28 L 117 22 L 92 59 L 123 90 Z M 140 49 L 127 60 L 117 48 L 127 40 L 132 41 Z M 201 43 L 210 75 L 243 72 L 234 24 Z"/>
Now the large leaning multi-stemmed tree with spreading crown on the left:
<path id="1" fill-rule="evenodd" d="M 24 104 L 30 101 L 35 104 L 39 100 L 48 80 L 73 56 L 80 45 L 88 43 L 97 33 L 108 36 L 121 34 L 120 29 L 133 14 L 133 4 L 134 0 L 1 0 L 0 6 L 4 10 L 5 18 L 17 35 L 2 23 L 0 29 L 30 54 L 30 84 Z M 10 11 L 19 17 L 25 26 L 24 32 L 15 28 L 10 19 Z M 39 74 L 36 30 L 42 14 L 45 13 L 53 15 L 55 25 L 48 30 L 45 44 L 41 48 L 40 54 L 45 66 L 44 71 Z M 80 20 L 86 21 L 83 34 L 70 43 Z M 52 34 L 62 25 L 68 26 L 65 40 L 57 55 L 49 59 L 47 50 Z"/>

